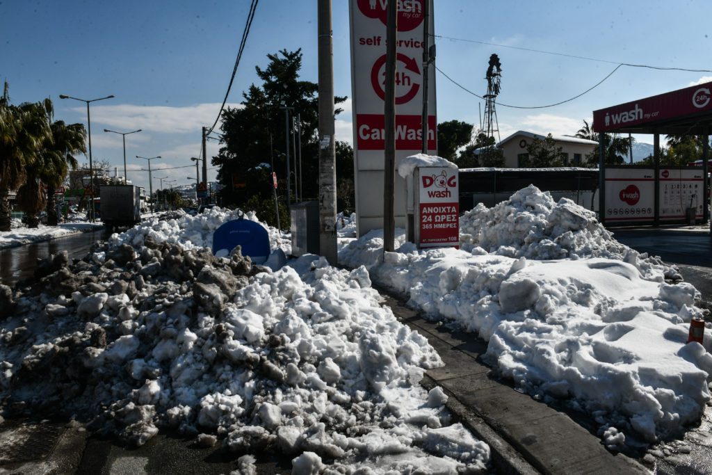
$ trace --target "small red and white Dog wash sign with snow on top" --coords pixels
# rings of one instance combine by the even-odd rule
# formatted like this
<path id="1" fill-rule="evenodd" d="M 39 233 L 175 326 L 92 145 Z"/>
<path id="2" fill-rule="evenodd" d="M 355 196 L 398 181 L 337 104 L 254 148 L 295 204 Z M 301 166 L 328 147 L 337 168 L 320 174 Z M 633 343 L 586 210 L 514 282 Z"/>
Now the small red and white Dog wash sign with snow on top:
<path id="1" fill-rule="evenodd" d="M 458 179 L 456 168 L 417 169 L 415 240 L 419 247 L 460 245 Z"/>

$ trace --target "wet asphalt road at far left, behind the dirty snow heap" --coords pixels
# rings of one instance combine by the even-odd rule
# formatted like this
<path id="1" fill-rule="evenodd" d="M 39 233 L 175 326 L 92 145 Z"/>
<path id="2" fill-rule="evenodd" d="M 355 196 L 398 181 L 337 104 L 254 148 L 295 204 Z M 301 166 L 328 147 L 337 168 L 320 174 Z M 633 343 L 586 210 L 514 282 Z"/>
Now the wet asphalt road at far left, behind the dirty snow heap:
<path id="1" fill-rule="evenodd" d="M 50 254 L 67 251 L 69 259 L 84 257 L 92 244 L 108 239 L 109 236 L 111 236 L 110 232 L 100 229 L 51 241 L 0 249 L 0 283 L 14 286 L 17 281 L 32 277 L 37 259 L 45 259 Z"/>

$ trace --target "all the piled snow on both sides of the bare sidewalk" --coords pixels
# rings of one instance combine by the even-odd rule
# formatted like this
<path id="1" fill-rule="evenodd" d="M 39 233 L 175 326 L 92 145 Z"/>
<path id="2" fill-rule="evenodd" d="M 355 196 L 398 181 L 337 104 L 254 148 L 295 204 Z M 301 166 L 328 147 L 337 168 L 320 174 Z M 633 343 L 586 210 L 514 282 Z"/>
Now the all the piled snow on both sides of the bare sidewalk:
<path id="1" fill-rule="evenodd" d="M 401 231 L 384 254 L 382 233 L 350 238 L 339 216 L 352 271 L 318 256 L 278 271 L 215 258 L 213 231 L 238 215 L 150 219 L 83 261 L 46 261 L 34 288 L 0 287 L 6 412 L 61 412 L 135 444 L 177 427 L 245 464 L 276 447 L 298 473 L 486 469 L 488 447 L 419 385 L 439 356 L 372 281 L 488 340 L 501 375 L 588 412 L 612 449 L 680 432 L 710 399 L 709 332 L 686 344 L 696 290 L 569 200 L 528 187 L 478 206 L 460 249 L 419 251 Z M 288 234 L 269 236 L 289 254 Z"/>

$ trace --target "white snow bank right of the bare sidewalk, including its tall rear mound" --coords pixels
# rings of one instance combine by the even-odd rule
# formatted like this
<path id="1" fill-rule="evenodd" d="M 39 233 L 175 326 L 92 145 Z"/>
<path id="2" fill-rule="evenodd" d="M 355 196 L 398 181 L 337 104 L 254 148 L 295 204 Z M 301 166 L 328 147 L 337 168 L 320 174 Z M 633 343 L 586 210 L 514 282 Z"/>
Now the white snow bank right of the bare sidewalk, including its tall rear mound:
<path id="1" fill-rule="evenodd" d="M 477 332 L 501 375 L 589 412 L 609 447 L 699 419 L 710 400 L 712 337 L 686 344 L 689 321 L 702 314 L 693 286 L 666 283 L 668 268 L 615 242 L 585 209 L 553 204 L 533 187 L 464 221 L 461 250 L 418 251 L 397 230 L 399 249 L 384 254 L 382 231 L 372 231 L 342 248 L 340 263 L 367 266 L 412 306 Z"/>

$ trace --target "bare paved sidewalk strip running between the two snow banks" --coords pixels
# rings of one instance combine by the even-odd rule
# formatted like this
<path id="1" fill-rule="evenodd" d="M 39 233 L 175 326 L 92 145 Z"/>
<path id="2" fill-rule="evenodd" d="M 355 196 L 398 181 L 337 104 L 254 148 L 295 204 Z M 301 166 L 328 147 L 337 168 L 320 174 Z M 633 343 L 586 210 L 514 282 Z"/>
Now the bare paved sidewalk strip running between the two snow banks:
<path id="1" fill-rule="evenodd" d="M 393 313 L 437 350 L 444 367 L 426 372 L 426 388 L 441 386 L 447 405 L 492 451 L 501 474 L 649 474 L 637 461 L 607 451 L 598 437 L 559 412 L 489 377 L 480 356 L 487 343 L 424 320 L 381 289 Z"/>

